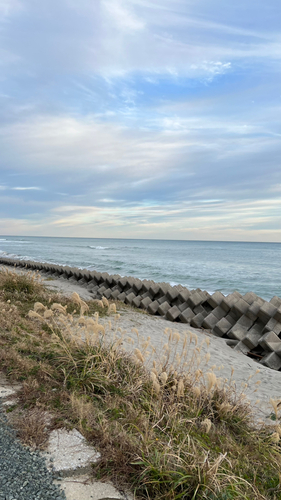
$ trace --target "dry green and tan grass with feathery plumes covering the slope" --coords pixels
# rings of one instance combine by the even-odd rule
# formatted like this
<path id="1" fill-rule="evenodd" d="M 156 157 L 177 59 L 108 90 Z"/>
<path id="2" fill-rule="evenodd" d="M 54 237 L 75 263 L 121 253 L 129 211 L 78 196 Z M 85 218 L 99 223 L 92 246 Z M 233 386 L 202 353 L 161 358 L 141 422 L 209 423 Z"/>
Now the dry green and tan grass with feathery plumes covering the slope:
<path id="1" fill-rule="evenodd" d="M 23 386 L 9 415 L 29 445 L 44 446 L 46 429 L 75 427 L 101 452 L 95 477 L 139 499 L 281 498 L 277 403 L 272 426 L 256 428 L 235 385 L 211 368 L 203 375 L 211 360 L 196 335 L 166 329 L 156 357 L 149 338 L 136 345 L 118 331 L 106 299 L 64 299 L 38 276 L 7 271 L 0 310 L 1 366 Z"/>

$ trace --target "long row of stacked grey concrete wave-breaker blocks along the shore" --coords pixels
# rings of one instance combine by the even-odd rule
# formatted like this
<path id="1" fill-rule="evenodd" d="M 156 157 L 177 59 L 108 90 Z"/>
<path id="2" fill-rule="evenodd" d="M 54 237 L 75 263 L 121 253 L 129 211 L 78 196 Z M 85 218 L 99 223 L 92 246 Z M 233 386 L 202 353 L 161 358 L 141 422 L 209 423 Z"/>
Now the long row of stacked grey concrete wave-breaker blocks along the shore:
<path id="1" fill-rule="evenodd" d="M 168 283 L 155 283 L 97 271 L 33 261 L 0 258 L 0 264 L 40 271 L 42 276 L 65 279 L 87 288 L 93 298 L 120 300 L 160 315 L 169 321 L 204 328 L 227 339 L 241 351 L 274 370 L 281 370 L 281 299 L 269 302 L 249 292 L 225 297 L 200 289 L 188 290 Z"/>

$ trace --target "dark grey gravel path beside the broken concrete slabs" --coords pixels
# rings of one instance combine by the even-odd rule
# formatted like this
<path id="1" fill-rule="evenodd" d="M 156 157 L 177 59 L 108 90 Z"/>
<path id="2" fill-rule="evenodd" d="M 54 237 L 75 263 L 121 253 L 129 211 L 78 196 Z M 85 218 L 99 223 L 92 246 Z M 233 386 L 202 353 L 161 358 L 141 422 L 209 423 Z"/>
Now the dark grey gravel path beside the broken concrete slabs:
<path id="1" fill-rule="evenodd" d="M 65 500 L 38 451 L 16 438 L 0 402 L 0 500 Z"/>

